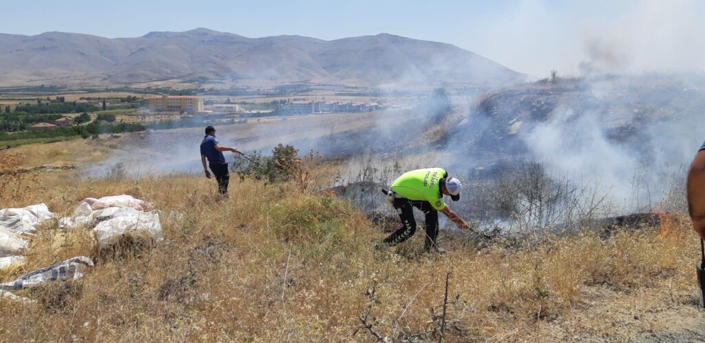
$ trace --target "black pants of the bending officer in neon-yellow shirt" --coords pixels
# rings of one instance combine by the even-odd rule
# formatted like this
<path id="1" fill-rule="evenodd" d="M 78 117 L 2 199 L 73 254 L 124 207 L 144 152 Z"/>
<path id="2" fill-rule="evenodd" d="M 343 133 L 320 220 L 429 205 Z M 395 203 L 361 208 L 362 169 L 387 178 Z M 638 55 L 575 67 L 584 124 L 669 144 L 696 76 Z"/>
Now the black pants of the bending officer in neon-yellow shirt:
<path id="1" fill-rule="evenodd" d="M 426 215 L 426 244 L 424 247 L 428 250 L 436 245 L 436 236 L 439 234 L 439 212 L 431 206 L 431 203 L 428 201 L 409 200 L 407 198 L 395 198 L 393 205 L 399 214 L 402 226 L 384 239 L 384 243 L 389 246 L 396 246 L 414 235 L 416 232 L 416 219 L 414 219 L 413 207 L 416 207 Z"/>

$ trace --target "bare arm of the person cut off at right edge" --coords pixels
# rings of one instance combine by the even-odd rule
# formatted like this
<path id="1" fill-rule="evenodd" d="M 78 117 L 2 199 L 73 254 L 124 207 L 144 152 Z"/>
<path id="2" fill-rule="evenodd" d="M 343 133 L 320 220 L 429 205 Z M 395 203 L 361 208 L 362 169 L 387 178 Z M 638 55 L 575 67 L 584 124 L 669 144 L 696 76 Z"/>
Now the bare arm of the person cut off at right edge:
<path id="1" fill-rule="evenodd" d="M 693 229 L 705 239 L 705 150 L 700 150 L 690 164 L 687 194 Z"/>

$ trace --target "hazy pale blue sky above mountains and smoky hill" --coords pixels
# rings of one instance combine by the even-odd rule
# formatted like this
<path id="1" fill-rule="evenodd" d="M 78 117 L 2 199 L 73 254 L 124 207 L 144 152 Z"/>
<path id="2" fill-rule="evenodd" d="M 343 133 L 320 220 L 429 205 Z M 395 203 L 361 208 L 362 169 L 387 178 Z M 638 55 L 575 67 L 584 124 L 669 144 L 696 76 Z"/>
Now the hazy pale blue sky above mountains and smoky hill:
<path id="1" fill-rule="evenodd" d="M 3 0 L 0 32 L 137 37 L 192 28 L 334 40 L 387 32 L 448 42 L 516 71 L 705 71 L 698 0 Z"/>

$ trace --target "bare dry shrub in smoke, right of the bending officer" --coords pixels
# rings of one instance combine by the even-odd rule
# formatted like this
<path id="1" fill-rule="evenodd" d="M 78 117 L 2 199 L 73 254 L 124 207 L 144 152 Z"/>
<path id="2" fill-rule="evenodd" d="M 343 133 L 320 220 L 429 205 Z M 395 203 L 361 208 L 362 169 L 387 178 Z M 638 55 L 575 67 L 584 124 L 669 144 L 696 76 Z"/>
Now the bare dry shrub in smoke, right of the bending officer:
<path id="1" fill-rule="evenodd" d="M 541 229 L 562 227 L 577 233 L 614 215 L 609 189 L 576 183 L 568 175 L 552 176 L 539 162 L 521 162 L 495 172 L 492 178 L 471 177 L 460 212 L 482 213 L 485 222 L 504 223 L 509 231 L 540 234 Z"/>

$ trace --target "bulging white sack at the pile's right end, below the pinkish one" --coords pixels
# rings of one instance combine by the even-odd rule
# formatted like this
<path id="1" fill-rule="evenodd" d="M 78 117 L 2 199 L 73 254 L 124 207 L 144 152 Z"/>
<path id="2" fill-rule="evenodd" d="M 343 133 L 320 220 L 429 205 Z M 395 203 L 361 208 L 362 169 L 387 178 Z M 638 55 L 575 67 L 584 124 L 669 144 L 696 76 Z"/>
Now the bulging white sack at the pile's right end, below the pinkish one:
<path id="1" fill-rule="evenodd" d="M 102 249 L 120 241 L 123 237 L 133 241 L 161 241 L 161 223 L 156 212 L 139 212 L 121 209 L 115 212 L 98 214 L 94 227 L 98 248 Z M 103 220 L 101 220 L 103 219 Z"/>

